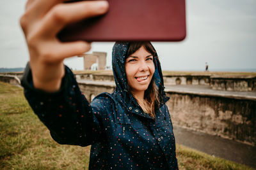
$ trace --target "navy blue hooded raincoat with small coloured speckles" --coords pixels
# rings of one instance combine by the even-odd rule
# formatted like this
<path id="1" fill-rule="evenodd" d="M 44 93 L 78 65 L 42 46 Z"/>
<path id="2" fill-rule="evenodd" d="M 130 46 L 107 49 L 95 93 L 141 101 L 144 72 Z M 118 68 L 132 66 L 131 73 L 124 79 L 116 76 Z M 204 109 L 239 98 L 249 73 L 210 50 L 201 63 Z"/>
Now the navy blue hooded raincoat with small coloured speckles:
<path id="1" fill-rule="evenodd" d="M 163 76 L 154 57 L 154 80 L 161 104 L 156 118 L 144 113 L 128 91 L 125 59 L 129 43 L 113 46 L 116 88 L 89 103 L 72 71 L 65 67 L 61 89 L 47 93 L 33 88 L 29 65 L 22 78 L 31 108 L 60 144 L 88 146 L 89 169 L 178 169 L 173 127 L 166 106 Z"/>

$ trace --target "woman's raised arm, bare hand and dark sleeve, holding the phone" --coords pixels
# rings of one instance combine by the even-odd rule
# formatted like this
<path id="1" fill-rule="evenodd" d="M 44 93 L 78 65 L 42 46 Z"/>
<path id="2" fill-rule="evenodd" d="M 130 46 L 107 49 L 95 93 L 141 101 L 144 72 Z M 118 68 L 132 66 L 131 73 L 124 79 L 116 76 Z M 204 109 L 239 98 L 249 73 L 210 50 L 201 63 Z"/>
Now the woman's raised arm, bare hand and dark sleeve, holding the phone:
<path id="1" fill-rule="evenodd" d="M 24 94 L 40 120 L 61 144 L 86 146 L 102 135 L 97 106 L 80 92 L 63 60 L 90 50 L 84 41 L 62 43 L 56 34 L 65 25 L 108 10 L 106 1 L 62 3 L 63 0 L 29 0 L 20 18 L 29 50 L 29 65 L 22 78 Z M 100 110 L 104 113 L 104 110 Z"/>

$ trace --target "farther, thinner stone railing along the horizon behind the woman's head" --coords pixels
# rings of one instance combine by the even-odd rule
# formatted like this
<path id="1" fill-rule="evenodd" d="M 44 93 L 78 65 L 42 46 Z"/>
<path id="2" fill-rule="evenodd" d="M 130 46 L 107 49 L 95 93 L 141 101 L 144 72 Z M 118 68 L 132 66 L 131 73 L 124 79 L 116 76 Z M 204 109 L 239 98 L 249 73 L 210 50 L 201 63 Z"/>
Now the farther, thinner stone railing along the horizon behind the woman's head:
<path id="1" fill-rule="evenodd" d="M 76 74 L 77 80 L 114 81 L 113 74 Z M 256 91 L 256 76 L 168 75 L 164 85 L 207 85 L 214 90 Z"/>

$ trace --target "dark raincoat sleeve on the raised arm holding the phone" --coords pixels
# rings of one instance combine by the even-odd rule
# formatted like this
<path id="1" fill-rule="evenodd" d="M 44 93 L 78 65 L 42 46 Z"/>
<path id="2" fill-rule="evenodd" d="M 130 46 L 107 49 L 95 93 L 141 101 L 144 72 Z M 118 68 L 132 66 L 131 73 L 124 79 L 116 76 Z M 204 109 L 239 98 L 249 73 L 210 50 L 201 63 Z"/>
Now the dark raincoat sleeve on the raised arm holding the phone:
<path id="1" fill-rule="evenodd" d="M 67 66 L 58 92 L 35 89 L 29 64 L 21 82 L 29 105 L 56 142 L 87 146 L 105 139 L 100 126 L 102 118 L 100 114 L 93 114 L 95 111 L 102 112 L 103 107 L 90 106 Z"/>

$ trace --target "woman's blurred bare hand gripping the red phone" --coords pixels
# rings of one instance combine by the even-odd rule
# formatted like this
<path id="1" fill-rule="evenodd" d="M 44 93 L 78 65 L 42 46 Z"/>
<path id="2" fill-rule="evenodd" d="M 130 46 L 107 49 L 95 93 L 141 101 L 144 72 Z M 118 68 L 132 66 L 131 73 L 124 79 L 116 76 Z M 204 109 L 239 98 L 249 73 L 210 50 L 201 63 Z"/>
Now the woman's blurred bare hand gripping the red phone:
<path id="1" fill-rule="evenodd" d="M 88 52 L 90 43 L 62 43 L 56 34 L 72 22 L 102 15 L 107 1 L 28 0 L 26 12 L 20 18 L 30 56 L 33 84 L 36 89 L 54 92 L 60 89 L 65 74 L 63 60 Z"/>

